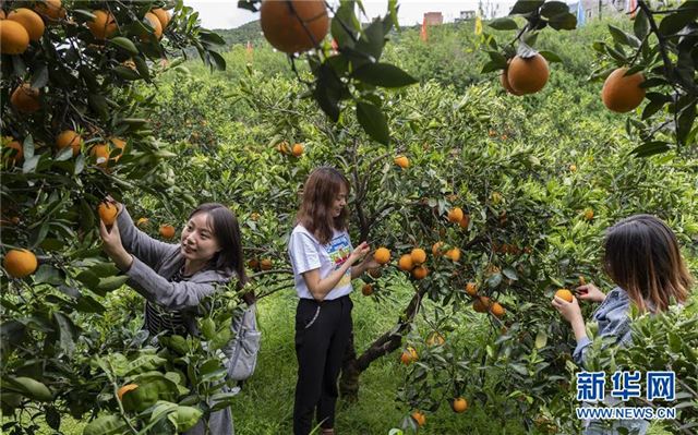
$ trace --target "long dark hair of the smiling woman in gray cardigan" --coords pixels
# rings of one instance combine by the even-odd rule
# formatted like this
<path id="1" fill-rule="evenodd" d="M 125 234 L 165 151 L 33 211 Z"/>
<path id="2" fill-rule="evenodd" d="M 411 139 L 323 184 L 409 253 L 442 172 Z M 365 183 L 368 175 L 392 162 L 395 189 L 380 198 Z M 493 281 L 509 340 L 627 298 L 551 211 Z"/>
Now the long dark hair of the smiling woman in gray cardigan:
<path id="1" fill-rule="evenodd" d="M 198 213 L 206 214 L 206 222 L 220 246 L 220 251 L 209 262 L 210 267 L 227 275 L 234 271 L 238 276 L 238 287 L 242 288 L 248 282 L 248 276 L 244 273 L 242 235 L 238 218 L 230 208 L 218 203 L 200 205 L 189 215 L 189 219 Z"/>

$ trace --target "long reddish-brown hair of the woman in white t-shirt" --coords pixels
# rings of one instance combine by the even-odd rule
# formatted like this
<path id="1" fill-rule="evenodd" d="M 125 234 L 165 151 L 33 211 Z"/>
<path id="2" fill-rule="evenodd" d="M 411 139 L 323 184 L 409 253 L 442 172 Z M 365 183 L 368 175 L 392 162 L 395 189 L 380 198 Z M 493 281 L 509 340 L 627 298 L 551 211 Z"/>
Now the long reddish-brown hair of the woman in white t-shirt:
<path id="1" fill-rule="evenodd" d="M 301 208 L 298 210 L 297 222 L 313 233 L 322 244 L 332 240 L 333 230 L 347 229 L 349 212 L 342 208 L 337 217 L 332 216 L 332 208 L 341 188 L 349 194 L 349 180 L 337 169 L 323 166 L 305 180 L 303 185 Z"/>

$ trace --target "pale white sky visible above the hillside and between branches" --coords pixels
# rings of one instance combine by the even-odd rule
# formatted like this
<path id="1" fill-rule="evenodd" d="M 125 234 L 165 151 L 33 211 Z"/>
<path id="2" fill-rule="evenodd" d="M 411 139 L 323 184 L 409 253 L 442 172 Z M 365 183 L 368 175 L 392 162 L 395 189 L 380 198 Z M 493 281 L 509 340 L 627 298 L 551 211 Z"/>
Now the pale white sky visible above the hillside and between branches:
<path id="1" fill-rule="evenodd" d="M 330 0 L 330 3 L 337 3 Z M 514 0 L 483 0 L 483 3 L 498 7 L 497 15 L 505 15 Z M 478 0 L 398 0 L 400 4 L 398 21 L 400 25 L 421 24 L 424 12 L 441 12 L 445 22 L 453 22 L 460 11 L 477 10 Z M 258 20 L 258 13 L 238 9 L 237 0 L 184 0 L 184 4 L 198 12 L 202 25 L 206 28 L 234 28 L 250 21 Z M 364 0 L 363 7 L 369 19 L 385 15 L 387 0 Z M 365 21 L 362 19 L 362 21 Z"/>

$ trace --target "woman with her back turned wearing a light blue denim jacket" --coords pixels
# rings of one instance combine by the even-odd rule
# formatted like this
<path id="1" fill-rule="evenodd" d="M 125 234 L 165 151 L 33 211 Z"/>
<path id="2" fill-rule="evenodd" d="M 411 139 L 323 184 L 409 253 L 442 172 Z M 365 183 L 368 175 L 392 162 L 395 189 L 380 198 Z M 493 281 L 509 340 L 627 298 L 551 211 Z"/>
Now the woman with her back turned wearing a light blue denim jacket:
<path id="1" fill-rule="evenodd" d="M 630 304 L 640 312 L 665 311 L 672 300 L 684 303 L 693 279 L 678 250 L 672 230 L 662 220 L 650 215 L 635 215 L 623 219 L 606 231 L 604 269 L 617 286 L 609 294 L 592 283 L 576 289 L 581 300 L 601 303 L 592 315 L 599 325 L 600 336 L 615 337 L 619 346 L 628 346 L 630 337 Z M 586 365 L 586 354 L 591 340 L 587 337 L 585 321 L 576 298 L 567 302 L 555 297 L 553 306 L 569 322 L 577 347 L 575 362 Z M 613 404 L 610 401 L 606 404 Z M 617 420 L 611 425 L 602 421 L 585 422 L 585 435 L 612 435 L 626 433 L 642 435 L 649 422 L 646 420 Z"/>

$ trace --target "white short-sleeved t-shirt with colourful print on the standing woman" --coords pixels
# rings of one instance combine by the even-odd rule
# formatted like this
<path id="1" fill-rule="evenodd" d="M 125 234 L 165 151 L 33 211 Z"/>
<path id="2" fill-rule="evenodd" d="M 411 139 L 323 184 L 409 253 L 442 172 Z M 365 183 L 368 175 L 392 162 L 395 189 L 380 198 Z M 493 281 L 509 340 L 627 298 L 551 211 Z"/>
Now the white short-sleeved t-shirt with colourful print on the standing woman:
<path id="1" fill-rule="evenodd" d="M 297 225 L 289 239 L 288 254 L 291 257 L 298 297 L 314 299 L 305 286 L 303 273 L 320 269 L 320 279 L 324 279 L 349 259 L 352 250 L 347 231 L 334 230 L 329 243 L 323 245 L 305 227 Z M 330 301 L 347 295 L 351 289 L 351 267 L 349 267 L 335 288 L 327 293 L 325 300 Z"/>

